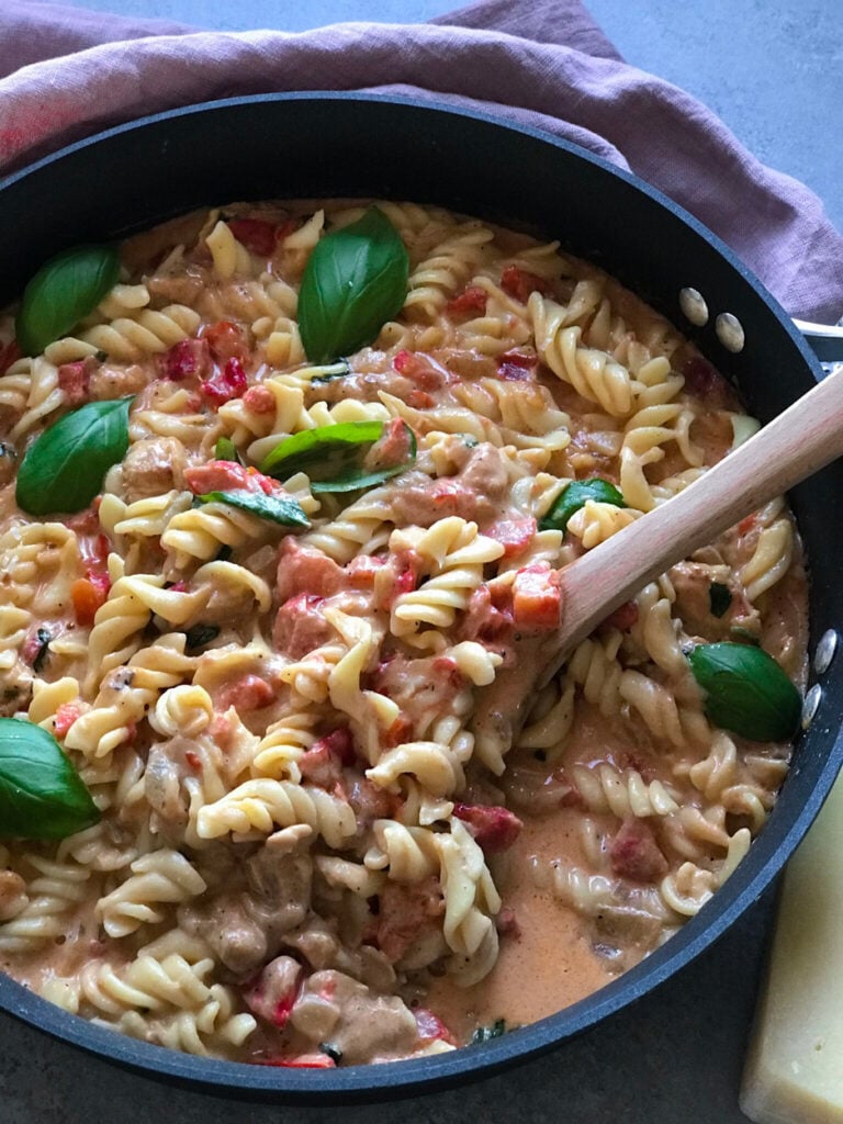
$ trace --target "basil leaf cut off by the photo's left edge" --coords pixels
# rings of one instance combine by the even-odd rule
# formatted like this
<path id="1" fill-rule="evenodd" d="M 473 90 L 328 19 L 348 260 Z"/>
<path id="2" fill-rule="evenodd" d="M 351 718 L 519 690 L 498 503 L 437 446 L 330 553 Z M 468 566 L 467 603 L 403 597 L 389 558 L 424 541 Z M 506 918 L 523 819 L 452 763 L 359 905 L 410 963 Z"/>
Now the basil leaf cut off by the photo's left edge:
<path id="1" fill-rule="evenodd" d="M 29 722 L 0 718 L 0 836 L 60 840 L 99 818 L 53 735 Z"/>

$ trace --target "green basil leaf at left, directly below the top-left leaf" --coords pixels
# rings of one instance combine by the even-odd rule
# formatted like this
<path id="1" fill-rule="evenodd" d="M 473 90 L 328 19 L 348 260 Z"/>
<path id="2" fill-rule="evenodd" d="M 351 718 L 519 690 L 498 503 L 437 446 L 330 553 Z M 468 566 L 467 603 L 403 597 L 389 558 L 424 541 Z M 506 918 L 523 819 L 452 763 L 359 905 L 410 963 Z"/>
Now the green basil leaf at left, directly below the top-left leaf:
<path id="1" fill-rule="evenodd" d="M 88 402 L 33 442 L 18 472 L 18 507 L 29 515 L 81 511 L 129 446 L 132 398 Z"/>

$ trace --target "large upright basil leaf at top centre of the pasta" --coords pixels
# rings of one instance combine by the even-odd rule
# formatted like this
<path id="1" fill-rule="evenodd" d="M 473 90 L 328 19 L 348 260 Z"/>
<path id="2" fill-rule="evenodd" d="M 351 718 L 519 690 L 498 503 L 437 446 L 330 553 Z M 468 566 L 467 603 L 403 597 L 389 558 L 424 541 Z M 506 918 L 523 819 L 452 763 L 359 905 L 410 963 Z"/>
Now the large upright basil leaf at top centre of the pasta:
<path id="1" fill-rule="evenodd" d="M 299 290 L 299 332 L 311 363 L 370 344 L 407 297 L 409 260 L 383 211 L 326 235 L 308 259 Z"/>

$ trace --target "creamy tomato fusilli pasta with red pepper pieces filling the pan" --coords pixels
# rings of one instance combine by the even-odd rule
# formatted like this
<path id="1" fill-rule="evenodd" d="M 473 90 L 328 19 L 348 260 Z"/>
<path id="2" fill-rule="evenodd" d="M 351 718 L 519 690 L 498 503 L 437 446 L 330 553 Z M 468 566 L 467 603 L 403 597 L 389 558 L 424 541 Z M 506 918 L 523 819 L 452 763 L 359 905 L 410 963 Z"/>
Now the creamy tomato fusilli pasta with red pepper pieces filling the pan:
<path id="1" fill-rule="evenodd" d="M 97 809 L 58 842 L 0 823 L 0 966 L 162 1046 L 329 1068 L 550 1015 L 705 907 L 787 774 L 687 659 L 759 646 L 803 686 L 783 500 L 536 686 L 559 571 L 728 455 L 731 388 L 556 243 L 378 206 L 165 224 L 38 355 L 0 317 L 0 705 Z M 364 346 L 308 310 L 353 237 L 401 287 Z M 92 502 L 56 478 L 33 515 L 25 457 L 116 399 Z"/>

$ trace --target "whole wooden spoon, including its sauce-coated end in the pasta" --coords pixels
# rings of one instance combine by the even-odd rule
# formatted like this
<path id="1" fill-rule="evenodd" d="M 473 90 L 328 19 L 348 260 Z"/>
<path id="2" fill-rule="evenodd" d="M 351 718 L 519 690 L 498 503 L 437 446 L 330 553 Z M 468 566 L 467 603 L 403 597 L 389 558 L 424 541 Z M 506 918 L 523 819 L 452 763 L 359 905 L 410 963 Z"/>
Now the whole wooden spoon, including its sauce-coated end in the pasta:
<path id="1" fill-rule="evenodd" d="M 493 772 L 528 713 L 528 703 L 601 620 L 647 582 L 843 455 L 843 368 L 667 504 L 560 571 L 562 626 L 519 654 L 478 698 L 479 756 Z M 830 513 L 833 518 L 833 513 Z"/>

